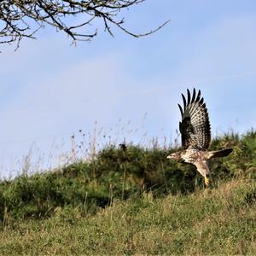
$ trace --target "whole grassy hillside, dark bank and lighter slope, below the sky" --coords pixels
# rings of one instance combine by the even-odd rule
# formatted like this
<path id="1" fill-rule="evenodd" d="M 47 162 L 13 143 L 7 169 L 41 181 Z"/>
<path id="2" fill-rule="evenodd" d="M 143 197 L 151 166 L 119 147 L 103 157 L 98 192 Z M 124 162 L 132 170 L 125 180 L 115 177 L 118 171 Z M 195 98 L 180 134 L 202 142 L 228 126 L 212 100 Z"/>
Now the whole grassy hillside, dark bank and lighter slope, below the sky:
<path id="1" fill-rule="evenodd" d="M 91 162 L 0 183 L 1 254 L 256 253 L 256 132 L 211 148 L 212 184 L 177 148 L 108 146 Z"/>

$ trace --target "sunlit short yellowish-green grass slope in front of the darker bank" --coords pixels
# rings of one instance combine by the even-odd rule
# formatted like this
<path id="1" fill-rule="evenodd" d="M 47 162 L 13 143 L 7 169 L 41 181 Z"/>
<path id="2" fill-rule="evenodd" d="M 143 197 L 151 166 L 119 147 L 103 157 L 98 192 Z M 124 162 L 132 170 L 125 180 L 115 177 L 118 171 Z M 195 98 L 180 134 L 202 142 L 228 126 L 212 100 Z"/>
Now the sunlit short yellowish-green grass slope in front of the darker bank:
<path id="1" fill-rule="evenodd" d="M 255 254 L 256 186 L 236 179 L 189 195 L 113 201 L 96 214 L 55 208 L 7 225 L 1 254 Z"/>

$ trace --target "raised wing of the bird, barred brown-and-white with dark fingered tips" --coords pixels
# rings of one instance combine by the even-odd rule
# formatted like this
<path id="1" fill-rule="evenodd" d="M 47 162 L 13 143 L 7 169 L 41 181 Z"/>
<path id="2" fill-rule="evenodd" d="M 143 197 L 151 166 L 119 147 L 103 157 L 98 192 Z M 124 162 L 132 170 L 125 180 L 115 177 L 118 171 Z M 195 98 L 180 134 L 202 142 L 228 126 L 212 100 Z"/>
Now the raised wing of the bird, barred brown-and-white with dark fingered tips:
<path id="1" fill-rule="evenodd" d="M 201 97 L 201 90 L 196 96 L 195 88 L 192 99 L 188 91 L 186 101 L 183 96 L 183 108 L 178 105 L 182 114 L 182 121 L 179 123 L 179 131 L 182 135 L 183 148 L 207 149 L 211 141 L 211 125 L 207 113 L 206 103 Z"/>

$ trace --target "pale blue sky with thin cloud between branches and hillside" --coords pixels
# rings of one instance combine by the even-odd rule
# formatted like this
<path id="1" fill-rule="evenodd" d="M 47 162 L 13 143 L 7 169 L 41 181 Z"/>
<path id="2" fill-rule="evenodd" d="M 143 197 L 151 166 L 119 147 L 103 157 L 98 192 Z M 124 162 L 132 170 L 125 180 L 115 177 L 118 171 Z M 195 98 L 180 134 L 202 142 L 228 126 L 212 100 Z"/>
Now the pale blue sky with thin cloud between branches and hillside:
<path id="1" fill-rule="evenodd" d="M 20 172 L 26 154 L 34 171 L 65 163 L 73 134 L 89 144 L 96 132 L 97 147 L 172 143 L 177 103 L 194 86 L 213 136 L 256 127 L 254 1 L 148 0 L 121 15 L 138 33 L 171 22 L 139 39 L 115 28 L 111 38 L 98 21 L 99 35 L 76 47 L 50 27 L 16 52 L 1 45 L 2 176 Z"/>

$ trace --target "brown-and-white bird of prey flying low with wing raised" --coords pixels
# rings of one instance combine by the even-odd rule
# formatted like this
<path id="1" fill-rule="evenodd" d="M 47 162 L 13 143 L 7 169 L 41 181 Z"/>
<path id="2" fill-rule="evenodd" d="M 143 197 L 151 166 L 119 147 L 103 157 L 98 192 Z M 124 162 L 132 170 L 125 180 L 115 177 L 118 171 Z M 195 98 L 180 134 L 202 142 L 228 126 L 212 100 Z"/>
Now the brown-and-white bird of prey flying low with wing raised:
<path id="1" fill-rule="evenodd" d="M 182 94 L 183 108 L 177 104 L 182 115 L 182 121 L 179 122 L 182 150 L 169 154 L 167 158 L 195 165 L 197 171 L 205 178 L 205 184 L 208 186 L 210 171 L 207 160 L 227 156 L 233 148 L 207 151 L 211 142 L 211 125 L 206 103 L 204 103 L 204 98 L 201 97 L 201 90 L 196 95 L 194 88 L 192 97 L 190 91 L 187 91 L 187 99 Z"/>

